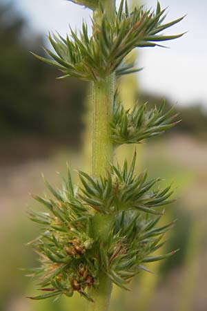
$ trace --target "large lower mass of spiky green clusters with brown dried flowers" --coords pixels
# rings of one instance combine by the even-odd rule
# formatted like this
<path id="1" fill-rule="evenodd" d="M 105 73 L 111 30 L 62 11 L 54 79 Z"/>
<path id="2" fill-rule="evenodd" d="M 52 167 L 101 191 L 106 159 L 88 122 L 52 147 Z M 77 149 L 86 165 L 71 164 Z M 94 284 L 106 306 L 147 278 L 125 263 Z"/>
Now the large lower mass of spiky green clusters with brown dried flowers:
<path id="1" fill-rule="evenodd" d="M 136 177 L 135 158 L 129 169 L 127 162 L 122 169 L 112 165 L 107 178 L 80 171 L 81 187 L 72 185 L 69 168 L 61 190 L 45 180 L 54 198 L 34 196 L 47 212 L 30 212 L 31 220 L 43 225 L 43 233 L 31 243 L 40 255 L 41 266 L 34 275 L 39 276 L 43 294 L 32 299 L 72 296 L 77 291 L 91 300 L 87 289 L 99 285 L 100 271 L 126 288 L 132 276 L 147 270 L 143 263 L 174 253 L 149 256 L 163 245 L 163 234 L 175 223 L 156 227 L 163 212 L 155 208 L 171 202 L 172 191 L 152 191 L 158 180 L 146 181 L 146 173 Z M 100 213 L 110 221 L 105 241 L 94 231 Z"/>

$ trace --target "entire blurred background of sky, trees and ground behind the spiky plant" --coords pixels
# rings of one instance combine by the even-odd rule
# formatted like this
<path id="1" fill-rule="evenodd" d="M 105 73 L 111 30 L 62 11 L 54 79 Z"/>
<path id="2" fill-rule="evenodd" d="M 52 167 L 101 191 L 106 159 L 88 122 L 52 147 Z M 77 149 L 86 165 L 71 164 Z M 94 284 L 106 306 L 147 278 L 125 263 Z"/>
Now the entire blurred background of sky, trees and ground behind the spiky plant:
<path id="1" fill-rule="evenodd" d="M 155 7 L 156 1 L 141 2 Z M 188 30 L 170 42 L 170 49 L 132 53 L 144 67 L 119 84 L 126 106 L 138 100 L 149 106 L 166 99 L 176 104 L 182 122 L 164 136 L 138 148 L 137 171 L 148 169 L 162 185 L 173 182 L 177 202 L 166 209 L 164 221 L 178 218 L 162 252 L 180 248 L 172 258 L 150 265 L 154 274 L 141 273 L 124 293 L 112 293 L 111 311 L 207 310 L 207 55 L 206 0 L 162 0 L 170 6 L 168 19 L 188 13 L 173 32 Z M 29 301 L 34 281 L 22 267 L 37 265 L 26 243 L 39 228 L 28 220 L 28 207 L 38 208 L 30 193 L 43 194 L 41 172 L 60 185 L 66 161 L 73 169 L 90 170 L 88 84 L 57 80 L 55 68 L 39 62 L 30 51 L 44 55 L 48 30 L 65 34 L 68 23 L 90 23 L 90 12 L 64 0 L 0 0 L 0 310 L 81 311 L 83 299 Z M 170 33 L 170 32 L 169 32 Z M 135 147 L 123 148 L 120 161 Z M 130 150 L 130 151 L 129 151 Z M 59 172 L 59 173 L 57 173 Z M 76 179 L 76 173 L 74 172 Z"/>

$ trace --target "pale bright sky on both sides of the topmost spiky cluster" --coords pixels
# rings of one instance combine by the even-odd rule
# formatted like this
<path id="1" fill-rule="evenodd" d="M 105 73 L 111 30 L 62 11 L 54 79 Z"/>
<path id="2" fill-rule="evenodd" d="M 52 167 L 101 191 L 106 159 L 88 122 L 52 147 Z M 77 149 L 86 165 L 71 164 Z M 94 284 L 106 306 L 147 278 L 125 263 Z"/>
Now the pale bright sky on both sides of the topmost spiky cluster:
<path id="1" fill-rule="evenodd" d="M 140 1 L 147 8 L 157 5 L 156 0 Z M 30 27 L 43 35 L 49 30 L 65 35 L 69 32 L 69 23 L 72 28 L 79 28 L 83 19 L 90 23 L 90 10 L 70 1 L 15 0 L 14 3 Z M 139 85 L 144 91 L 169 97 L 178 104 L 197 102 L 207 107 L 207 1 L 160 0 L 160 3 L 161 7 L 168 7 L 166 21 L 187 14 L 184 21 L 166 33 L 188 33 L 168 41 L 169 48 L 139 49 L 137 65 L 144 67 L 137 76 Z"/>

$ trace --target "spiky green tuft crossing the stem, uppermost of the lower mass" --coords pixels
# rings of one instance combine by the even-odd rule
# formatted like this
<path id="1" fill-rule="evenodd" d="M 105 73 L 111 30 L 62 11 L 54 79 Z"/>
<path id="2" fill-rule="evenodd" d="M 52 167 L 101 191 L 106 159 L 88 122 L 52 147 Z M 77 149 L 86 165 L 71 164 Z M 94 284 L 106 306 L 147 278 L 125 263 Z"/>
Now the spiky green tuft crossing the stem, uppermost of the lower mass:
<path id="1" fill-rule="evenodd" d="M 111 165 L 111 173 L 107 177 L 92 178 L 80 172 L 83 187 L 81 199 L 103 214 L 117 215 L 120 211 L 139 210 L 150 214 L 160 214 L 155 208 L 171 203 L 167 200 L 173 193 L 170 187 L 164 190 L 152 189 L 160 178 L 146 180 L 147 173 L 134 175 L 136 153 L 128 169 L 128 162 Z"/>

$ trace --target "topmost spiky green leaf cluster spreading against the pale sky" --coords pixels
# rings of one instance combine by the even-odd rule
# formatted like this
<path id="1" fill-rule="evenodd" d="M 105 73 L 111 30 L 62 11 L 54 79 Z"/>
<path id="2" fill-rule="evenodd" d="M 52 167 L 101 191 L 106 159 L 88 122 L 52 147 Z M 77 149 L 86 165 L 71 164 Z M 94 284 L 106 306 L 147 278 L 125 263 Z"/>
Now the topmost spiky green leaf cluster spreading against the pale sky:
<path id="1" fill-rule="evenodd" d="M 99 23 L 92 20 L 92 35 L 88 35 L 88 27 L 83 22 L 82 32 L 77 35 L 70 29 L 70 37 L 64 39 L 61 35 L 49 35 L 50 43 L 55 53 L 46 48 L 46 53 L 52 59 L 37 56 L 39 59 L 59 68 L 63 77 L 74 76 L 83 80 L 96 81 L 118 70 L 124 58 L 134 48 L 159 46 L 157 42 L 181 37 L 181 35 L 162 35 L 160 32 L 175 25 L 183 17 L 163 23 L 166 10 L 161 10 L 159 2 L 157 10 L 151 12 L 144 7 L 128 11 L 126 2 L 121 1 L 114 21 L 108 19 L 104 10 Z M 124 74 L 121 67 L 121 73 Z"/>

